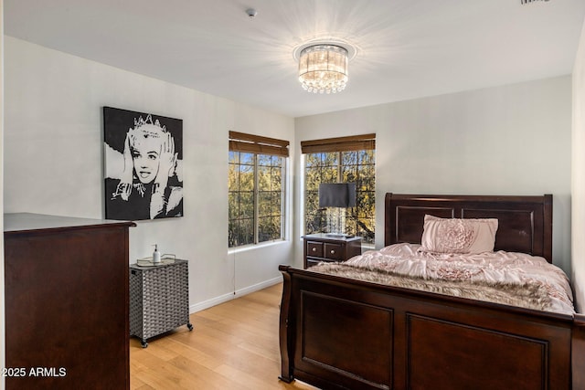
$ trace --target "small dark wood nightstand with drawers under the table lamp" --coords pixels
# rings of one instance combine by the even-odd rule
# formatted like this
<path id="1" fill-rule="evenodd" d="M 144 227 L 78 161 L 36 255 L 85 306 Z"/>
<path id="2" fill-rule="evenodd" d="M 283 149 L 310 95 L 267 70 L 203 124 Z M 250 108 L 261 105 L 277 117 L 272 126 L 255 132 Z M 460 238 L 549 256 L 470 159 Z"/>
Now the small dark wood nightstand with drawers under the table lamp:
<path id="1" fill-rule="evenodd" d="M 362 253 L 361 237 L 318 233 L 303 236 L 303 267 L 308 269 L 321 261 L 346 261 Z"/>

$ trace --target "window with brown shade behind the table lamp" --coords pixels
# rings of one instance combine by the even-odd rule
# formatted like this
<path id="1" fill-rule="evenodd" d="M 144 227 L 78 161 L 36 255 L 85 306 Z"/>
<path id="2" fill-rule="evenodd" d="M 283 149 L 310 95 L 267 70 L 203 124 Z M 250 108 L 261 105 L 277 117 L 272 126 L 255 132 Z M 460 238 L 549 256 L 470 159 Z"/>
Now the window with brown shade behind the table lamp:
<path id="1" fill-rule="evenodd" d="M 327 232 L 327 210 L 319 207 L 319 184 L 356 183 L 356 207 L 345 213 L 345 232 L 374 244 L 376 134 L 301 142 L 304 154 L 304 231 Z"/>

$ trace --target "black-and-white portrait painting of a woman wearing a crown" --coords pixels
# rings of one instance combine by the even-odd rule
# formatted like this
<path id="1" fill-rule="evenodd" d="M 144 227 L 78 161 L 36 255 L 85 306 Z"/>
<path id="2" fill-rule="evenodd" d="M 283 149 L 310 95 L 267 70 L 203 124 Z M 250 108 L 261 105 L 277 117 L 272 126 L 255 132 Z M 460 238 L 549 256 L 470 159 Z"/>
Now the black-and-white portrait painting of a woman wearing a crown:
<path id="1" fill-rule="evenodd" d="M 107 219 L 183 216 L 183 121 L 103 108 Z"/>

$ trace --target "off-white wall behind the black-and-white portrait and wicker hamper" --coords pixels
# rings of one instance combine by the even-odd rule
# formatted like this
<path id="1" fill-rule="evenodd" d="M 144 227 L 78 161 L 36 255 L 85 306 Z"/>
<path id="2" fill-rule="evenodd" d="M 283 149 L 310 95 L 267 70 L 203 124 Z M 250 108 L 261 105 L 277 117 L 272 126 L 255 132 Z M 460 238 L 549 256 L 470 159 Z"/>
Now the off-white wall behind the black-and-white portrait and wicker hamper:
<path id="1" fill-rule="evenodd" d="M 183 120 L 185 216 L 138 222 L 131 262 L 154 243 L 190 260 L 191 311 L 281 280 L 290 242 L 228 253 L 228 132 L 294 144 L 292 118 L 13 37 L 5 37 L 6 213 L 104 216 L 103 106 Z"/>

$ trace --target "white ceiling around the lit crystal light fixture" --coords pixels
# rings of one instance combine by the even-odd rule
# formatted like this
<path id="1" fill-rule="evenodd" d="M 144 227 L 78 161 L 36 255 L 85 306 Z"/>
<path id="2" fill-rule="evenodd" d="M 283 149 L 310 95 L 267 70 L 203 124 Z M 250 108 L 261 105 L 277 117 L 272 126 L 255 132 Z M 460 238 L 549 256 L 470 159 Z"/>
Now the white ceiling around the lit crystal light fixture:
<path id="1" fill-rule="evenodd" d="M 250 18 L 246 10 L 255 8 Z M 4 0 L 5 35 L 299 117 L 571 73 L 584 0 Z M 304 91 L 295 47 L 357 48 Z"/>

